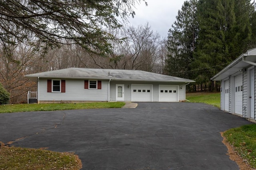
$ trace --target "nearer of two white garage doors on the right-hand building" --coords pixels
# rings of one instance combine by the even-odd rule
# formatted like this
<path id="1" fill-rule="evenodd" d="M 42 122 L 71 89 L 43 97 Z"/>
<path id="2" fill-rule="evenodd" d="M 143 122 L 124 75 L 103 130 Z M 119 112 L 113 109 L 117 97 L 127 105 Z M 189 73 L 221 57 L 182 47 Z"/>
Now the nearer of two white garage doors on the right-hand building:
<path id="1" fill-rule="evenodd" d="M 243 111 L 243 79 L 242 74 L 235 77 L 235 113 L 242 115 Z"/>

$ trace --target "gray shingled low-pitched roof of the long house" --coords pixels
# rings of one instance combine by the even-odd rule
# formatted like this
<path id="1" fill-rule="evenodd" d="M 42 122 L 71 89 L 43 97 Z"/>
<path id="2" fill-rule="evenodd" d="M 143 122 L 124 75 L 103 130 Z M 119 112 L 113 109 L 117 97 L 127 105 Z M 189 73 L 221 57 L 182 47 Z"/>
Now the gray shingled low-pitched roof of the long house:
<path id="1" fill-rule="evenodd" d="M 25 77 L 31 80 L 39 78 L 83 78 L 102 80 L 135 80 L 135 81 L 162 81 L 162 82 L 194 82 L 185 78 L 156 74 L 141 70 L 116 70 L 98 68 L 66 68 L 28 74 Z"/>

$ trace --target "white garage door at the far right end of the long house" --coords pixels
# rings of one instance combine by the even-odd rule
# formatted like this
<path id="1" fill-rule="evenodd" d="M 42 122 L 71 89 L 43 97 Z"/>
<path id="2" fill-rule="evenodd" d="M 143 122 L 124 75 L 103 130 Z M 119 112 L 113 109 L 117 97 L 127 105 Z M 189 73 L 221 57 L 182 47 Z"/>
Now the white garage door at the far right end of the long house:
<path id="1" fill-rule="evenodd" d="M 159 85 L 159 102 L 178 102 L 178 86 Z"/>

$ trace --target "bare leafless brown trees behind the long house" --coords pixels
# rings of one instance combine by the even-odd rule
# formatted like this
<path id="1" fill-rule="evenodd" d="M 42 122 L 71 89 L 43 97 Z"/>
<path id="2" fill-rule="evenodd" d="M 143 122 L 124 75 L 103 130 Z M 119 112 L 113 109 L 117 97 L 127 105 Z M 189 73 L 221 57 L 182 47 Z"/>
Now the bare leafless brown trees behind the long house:
<path id="1" fill-rule="evenodd" d="M 15 44 L 2 43 L 0 82 L 10 92 L 10 102 L 26 102 L 27 92 L 36 91 L 37 84 L 24 77 L 36 72 L 70 67 L 163 72 L 167 54 L 166 41 L 159 33 L 154 32 L 148 23 L 106 31 L 117 39 L 110 41 L 110 52 L 104 56 L 71 43 L 58 48 L 48 48 L 47 51 L 34 48 L 36 42 L 33 45 L 25 41 Z"/>

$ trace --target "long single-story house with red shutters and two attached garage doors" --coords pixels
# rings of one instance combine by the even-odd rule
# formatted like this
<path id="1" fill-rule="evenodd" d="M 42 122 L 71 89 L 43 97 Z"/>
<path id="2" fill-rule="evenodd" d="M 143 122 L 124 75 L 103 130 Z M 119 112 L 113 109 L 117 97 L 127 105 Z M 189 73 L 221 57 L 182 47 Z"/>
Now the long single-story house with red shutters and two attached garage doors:
<path id="1" fill-rule="evenodd" d="M 179 102 L 194 82 L 141 70 L 66 68 L 25 77 L 37 82 L 38 102 Z"/>

